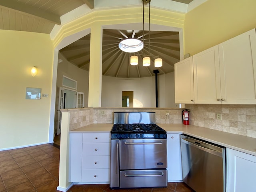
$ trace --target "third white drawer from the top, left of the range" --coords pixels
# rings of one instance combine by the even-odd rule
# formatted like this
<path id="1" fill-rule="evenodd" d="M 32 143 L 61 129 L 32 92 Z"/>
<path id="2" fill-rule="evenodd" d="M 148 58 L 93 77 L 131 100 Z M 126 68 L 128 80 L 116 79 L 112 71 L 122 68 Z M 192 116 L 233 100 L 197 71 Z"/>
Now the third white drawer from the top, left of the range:
<path id="1" fill-rule="evenodd" d="M 82 156 L 82 169 L 109 169 L 110 156 Z"/>

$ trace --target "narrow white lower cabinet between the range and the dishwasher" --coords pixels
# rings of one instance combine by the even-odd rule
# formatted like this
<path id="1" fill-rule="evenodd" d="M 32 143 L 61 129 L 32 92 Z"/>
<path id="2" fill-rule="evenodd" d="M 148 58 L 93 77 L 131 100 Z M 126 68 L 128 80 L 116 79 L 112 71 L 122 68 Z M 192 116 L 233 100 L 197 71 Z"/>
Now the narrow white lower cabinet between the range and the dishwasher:
<path id="1" fill-rule="evenodd" d="M 168 182 L 182 180 L 180 134 L 167 134 L 167 176 Z"/>

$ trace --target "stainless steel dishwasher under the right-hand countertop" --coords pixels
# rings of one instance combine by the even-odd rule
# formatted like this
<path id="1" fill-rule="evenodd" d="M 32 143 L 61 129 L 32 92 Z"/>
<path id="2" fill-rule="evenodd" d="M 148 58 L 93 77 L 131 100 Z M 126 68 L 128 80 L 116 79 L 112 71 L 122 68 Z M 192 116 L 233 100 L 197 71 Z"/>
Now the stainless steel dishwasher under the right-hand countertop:
<path id="1" fill-rule="evenodd" d="M 226 191 L 226 148 L 180 135 L 183 181 L 196 192 Z"/>

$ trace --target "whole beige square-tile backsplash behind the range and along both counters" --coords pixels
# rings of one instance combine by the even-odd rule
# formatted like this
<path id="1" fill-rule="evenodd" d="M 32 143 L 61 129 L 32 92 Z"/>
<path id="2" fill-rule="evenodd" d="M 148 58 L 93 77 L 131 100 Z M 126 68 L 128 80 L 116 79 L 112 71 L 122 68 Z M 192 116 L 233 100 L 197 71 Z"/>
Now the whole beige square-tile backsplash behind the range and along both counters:
<path id="1" fill-rule="evenodd" d="M 256 105 L 186 104 L 190 125 L 256 138 Z M 90 124 L 113 123 L 114 112 L 156 112 L 156 123 L 182 123 L 180 108 L 81 108 L 70 109 L 70 130 Z M 217 120 L 221 114 L 222 120 Z"/>

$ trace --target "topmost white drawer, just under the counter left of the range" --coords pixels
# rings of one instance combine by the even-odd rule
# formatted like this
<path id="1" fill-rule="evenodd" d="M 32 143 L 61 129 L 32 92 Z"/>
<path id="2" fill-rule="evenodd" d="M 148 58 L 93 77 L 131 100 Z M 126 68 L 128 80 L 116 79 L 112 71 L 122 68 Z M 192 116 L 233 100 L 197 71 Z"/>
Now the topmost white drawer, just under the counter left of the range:
<path id="1" fill-rule="evenodd" d="M 110 133 L 84 133 L 83 143 L 110 143 Z"/>

